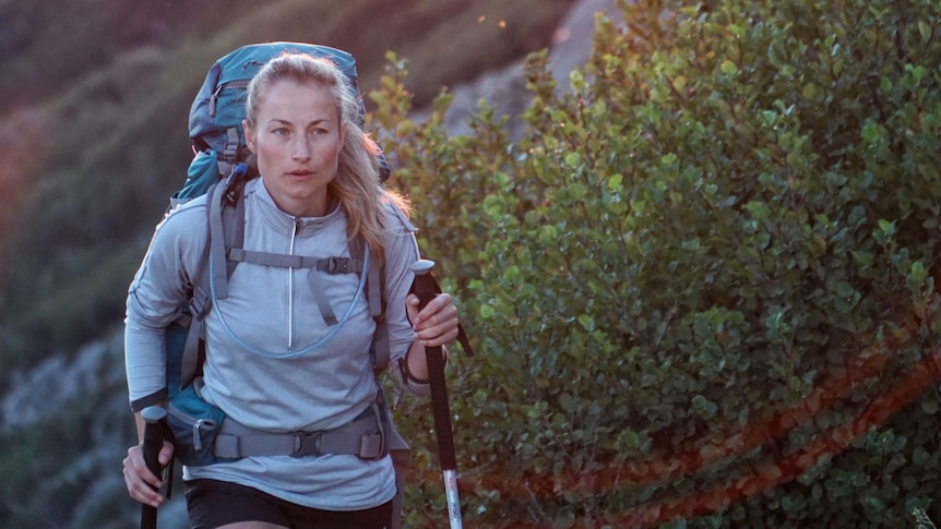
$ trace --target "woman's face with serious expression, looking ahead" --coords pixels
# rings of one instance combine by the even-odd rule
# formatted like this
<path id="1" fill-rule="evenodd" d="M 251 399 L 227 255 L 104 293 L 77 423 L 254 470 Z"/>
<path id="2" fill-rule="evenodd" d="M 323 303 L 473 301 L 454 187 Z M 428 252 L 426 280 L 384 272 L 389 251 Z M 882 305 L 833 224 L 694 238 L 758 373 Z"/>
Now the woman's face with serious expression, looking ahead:
<path id="1" fill-rule="evenodd" d="M 267 192 L 297 217 L 326 214 L 326 184 L 336 176 L 344 130 L 330 88 L 275 81 L 259 101 L 255 127 L 243 123 Z"/>

